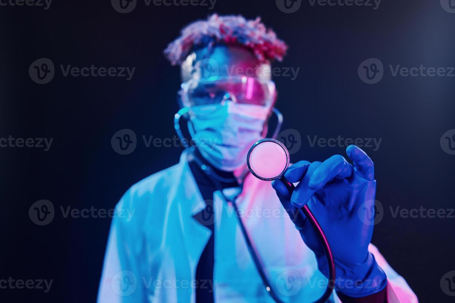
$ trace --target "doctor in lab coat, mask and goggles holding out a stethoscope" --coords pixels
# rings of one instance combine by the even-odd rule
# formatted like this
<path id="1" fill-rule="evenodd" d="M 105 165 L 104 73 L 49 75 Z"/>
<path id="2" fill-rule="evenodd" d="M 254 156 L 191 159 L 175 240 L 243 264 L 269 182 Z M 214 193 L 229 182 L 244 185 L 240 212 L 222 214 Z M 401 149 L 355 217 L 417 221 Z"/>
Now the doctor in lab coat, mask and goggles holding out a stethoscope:
<path id="1" fill-rule="evenodd" d="M 187 129 L 191 144 L 178 164 L 133 185 L 117 204 L 136 211 L 112 221 L 98 302 L 274 302 L 271 292 L 283 302 L 317 300 L 328 283 L 324 252 L 282 203 L 308 204 L 329 239 L 337 273 L 329 302 L 418 302 L 370 243 L 376 183 L 361 149 L 349 146 L 349 159 L 293 164 L 285 175 L 298 183 L 292 196 L 249 174 L 246 154 L 266 136 L 276 100 L 270 62 L 286 49 L 259 19 L 218 15 L 168 45 L 183 82 L 177 132 Z"/>

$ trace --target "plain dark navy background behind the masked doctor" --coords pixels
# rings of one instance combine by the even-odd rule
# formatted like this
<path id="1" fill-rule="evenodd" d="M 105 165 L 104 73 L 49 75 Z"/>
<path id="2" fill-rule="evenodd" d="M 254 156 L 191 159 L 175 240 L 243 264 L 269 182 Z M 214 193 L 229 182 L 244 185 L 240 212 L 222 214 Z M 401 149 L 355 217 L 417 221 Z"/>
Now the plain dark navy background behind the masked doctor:
<path id="1" fill-rule="evenodd" d="M 95 1 L 93 1 L 95 2 Z M 114 207 L 132 184 L 177 163 L 180 148 L 146 148 L 142 135 L 172 138 L 179 70 L 162 55 L 179 29 L 212 12 L 260 15 L 289 45 L 277 66 L 300 67 L 296 80 L 275 79 L 283 129 L 298 129 L 292 160 L 324 160 L 344 148 L 311 148 L 307 135 L 383 138 L 365 148 L 375 162 L 384 219 L 373 243 L 421 302 L 450 302 L 440 279 L 455 269 L 455 219 L 393 218 L 389 206 L 454 208 L 455 155 L 440 137 L 455 128 L 455 78 L 393 77 L 390 65 L 455 66 L 455 14 L 439 0 L 383 0 L 365 6 L 311 6 L 292 14 L 272 0 L 218 0 L 200 6 L 146 6 L 128 14 L 110 1 L 54 0 L 43 7 L 0 6 L 0 137 L 53 138 L 47 152 L 0 148 L 0 278 L 53 279 L 51 290 L 0 289 L 0 301 L 93 302 L 111 219 L 63 218 L 60 206 Z M 49 58 L 48 84 L 30 79 L 30 64 Z M 384 77 L 365 84 L 357 68 L 379 58 Z M 64 77 L 59 65 L 136 67 L 119 77 Z M 117 154 L 111 137 L 132 129 L 136 150 Z M 32 223 L 35 201 L 56 208 L 51 224 Z M 13 299 L 14 298 L 14 299 Z"/>

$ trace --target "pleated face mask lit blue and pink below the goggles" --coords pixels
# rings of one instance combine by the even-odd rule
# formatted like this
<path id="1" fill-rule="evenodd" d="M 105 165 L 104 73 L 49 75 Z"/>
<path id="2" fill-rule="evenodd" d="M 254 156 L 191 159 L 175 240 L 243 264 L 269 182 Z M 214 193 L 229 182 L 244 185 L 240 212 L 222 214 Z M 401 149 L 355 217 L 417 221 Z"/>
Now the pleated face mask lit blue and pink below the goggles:
<path id="1" fill-rule="evenodd" d="M 215 168 L 234 171 L 246 165 L 248 150 L 263 139 L 269 107 L 237 104 L 192 106 L 192 139 L 202 156 Z"/>

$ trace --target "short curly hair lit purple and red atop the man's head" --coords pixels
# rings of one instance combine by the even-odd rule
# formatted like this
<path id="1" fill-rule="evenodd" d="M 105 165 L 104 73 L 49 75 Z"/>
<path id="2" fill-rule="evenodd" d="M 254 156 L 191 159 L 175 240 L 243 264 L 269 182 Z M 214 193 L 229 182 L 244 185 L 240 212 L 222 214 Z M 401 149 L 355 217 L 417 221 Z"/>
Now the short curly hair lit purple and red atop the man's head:
<path id="1" fill-rule="evenodd" d="M 192 50 L 214 43 L 243 45 L 261 62 L 281 61 L 288 49 L 273 30 L 266 29 L 259 17 L 246 20 L 242 15 L 214 14 L 207 20 L 198 20 L 184 27 L 181 36 L 167 45 L 164 55 L 172 65 L 181 65 Z"/>

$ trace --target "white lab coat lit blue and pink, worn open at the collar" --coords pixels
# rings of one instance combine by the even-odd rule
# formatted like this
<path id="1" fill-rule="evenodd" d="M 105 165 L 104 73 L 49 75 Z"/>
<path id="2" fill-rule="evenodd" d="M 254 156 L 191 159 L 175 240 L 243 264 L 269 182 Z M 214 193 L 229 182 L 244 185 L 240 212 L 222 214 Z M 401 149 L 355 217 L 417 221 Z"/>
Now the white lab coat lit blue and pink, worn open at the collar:
<path id="1" fill-rule="evenodd" d="M 228 191 L 225 191 L 229 194 Z M 232 205 L 214 194 L 216 302 L 273 302 L 264 289 Z M 323 274 L 313 252 L 285 215 L 270 182 L 251 174 L 237 198 L 243 222 L 268 279 L 285 302 L 313 302 L 324 293 Z M 196 266 L 211 231 L 193 218 L 205 207 L 189 169 L 180 162 L 133 185 L 116 209 L 134 211 L 114 218 L 107 243 L 98 302 L 195 302 Z M 120 213 L 118 213 L 120 214 Z M 370 245 L 388 278 L 388 299 L 418 302 L 408 284 Z M 329 302 L 340 302 L 336 293 Z"/>

